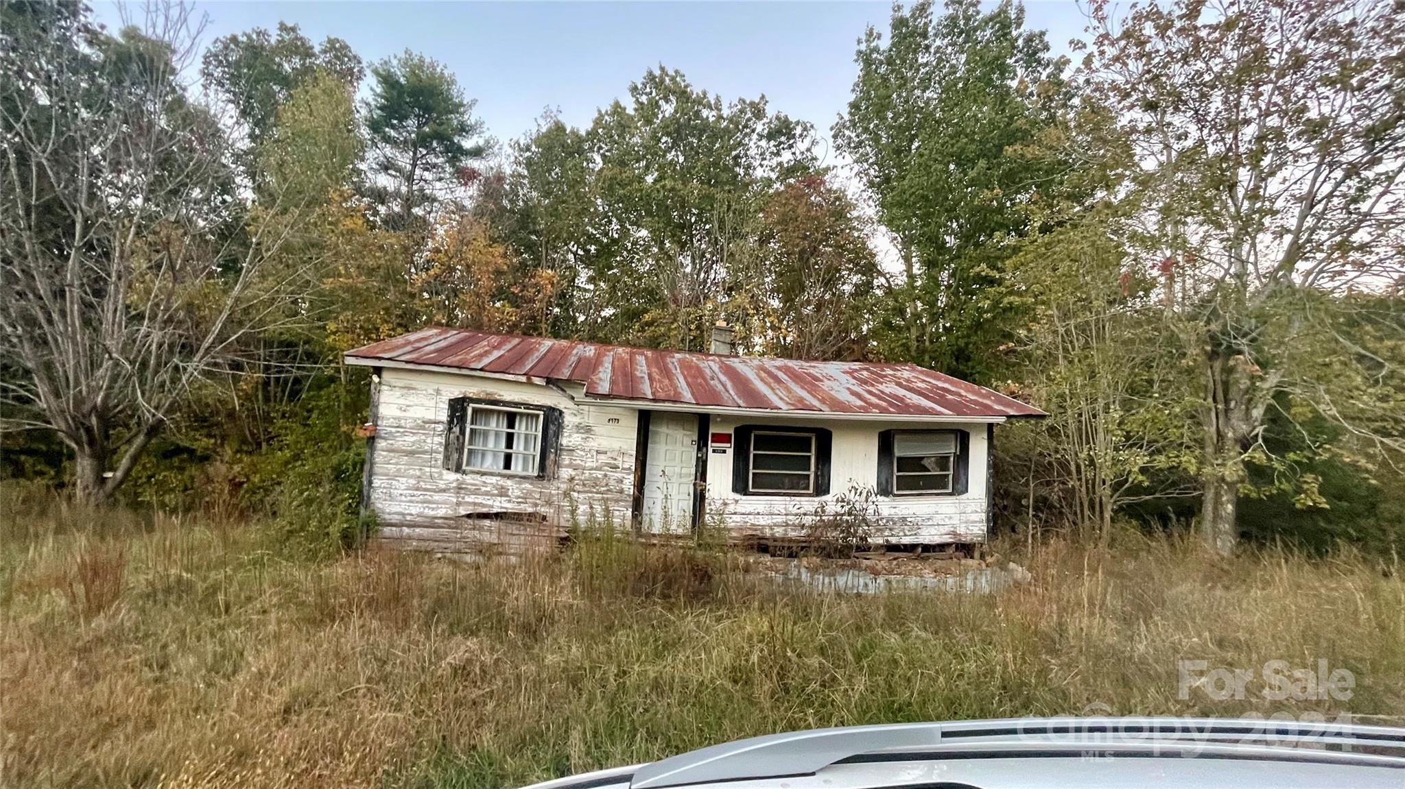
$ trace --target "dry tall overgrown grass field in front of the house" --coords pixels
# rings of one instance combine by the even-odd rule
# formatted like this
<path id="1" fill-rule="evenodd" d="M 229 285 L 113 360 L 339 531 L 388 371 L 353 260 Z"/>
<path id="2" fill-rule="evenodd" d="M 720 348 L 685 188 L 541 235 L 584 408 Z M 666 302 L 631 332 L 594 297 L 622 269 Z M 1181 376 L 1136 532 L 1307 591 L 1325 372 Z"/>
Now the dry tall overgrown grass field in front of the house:
<path id="1" fill-rule="evenodd" d="M 1405 713 L 1405 583 L 1364 560 L 1054 543 L 993 597 L 780 590 L 589 541 L 483 564 L 284 559 L 259 528 L 11 511 L 6 786 L 496 788 L 870 722 Z M 1177 660 L 1350 670 L 1349 702 L 1177 698 Z"/>

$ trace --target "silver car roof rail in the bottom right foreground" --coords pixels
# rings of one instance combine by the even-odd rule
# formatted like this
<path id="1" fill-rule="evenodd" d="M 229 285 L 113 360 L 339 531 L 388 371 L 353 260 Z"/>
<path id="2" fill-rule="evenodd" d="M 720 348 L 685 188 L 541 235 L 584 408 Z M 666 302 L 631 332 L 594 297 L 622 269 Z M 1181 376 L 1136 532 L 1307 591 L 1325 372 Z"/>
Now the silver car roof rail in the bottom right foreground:
<path id="1" fill-rule="evenodd" d="M 1249 719 L 1189 717 L 1045 717 L 951 723 L 896 723 L 815 729 L 770 734 L 711 745 L 639 768 L 631 789 L 663 789 L 688 783 L 811 775 L 832 764 L 870 754 L 895 758 L 940 755 L 957 750 L 999 750 L 1010 755 L 1051 748 L 1106 748 L 1142 752 L 1149 748 L 1186 752 L 1196 748 L 1227 755 L 1293 754 L 1302 745 L 1312 758 L 1333 760 L 1333 751 L 1384 754 L 1359 757 L 1405 767 L 1405 729 Z M 1298 751 L 1302 752 L 1302 751 Z"/>

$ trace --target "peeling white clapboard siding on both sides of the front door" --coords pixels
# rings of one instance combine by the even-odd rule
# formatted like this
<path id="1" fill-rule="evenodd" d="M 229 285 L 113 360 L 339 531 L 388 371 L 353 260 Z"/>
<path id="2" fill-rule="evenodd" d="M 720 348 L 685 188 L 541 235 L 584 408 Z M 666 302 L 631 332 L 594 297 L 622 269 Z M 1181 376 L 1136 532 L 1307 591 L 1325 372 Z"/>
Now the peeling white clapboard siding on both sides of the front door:
<path id="1" fill-rule="evenodd" d="M 490 548 L 520 550 L 555 545 L 573 522 L 587 525 L 592 518 L 597 524 L 610 518 L 615 526 L 628 528 L 639 413 L 632 407 L 580 404 L 575 397 L 582 396 L 583 387 L 563 386 L 384 369 L 367 498 L 381 525 L 381 541 L 440 553 Z M 555 476 L 538 480 L 444 470 L 448 402 L 462 396 L 559 409 L 562 432 Z M 850 489 L 874 486 L 878 432 L 910 427 L 902 421 L 714 416 L 710 431 L 731 432 L 739 424 L 823 427 L 832 432 L 833 446 L 830 493 L 816 498 L 738 496 L 732 493 L 732 460 L 740 448 L 708 452 L 705 518 L 710 524 L 721 524 L 735 541 L 804 538 L 822 511 L 833 514 L 840 508 Z M 871 535 L 875 541 L 975 543 L 986 539 L 989 432 L 984 424 L 951 427 L 967 430 L 971 437 L 967 493 L 878 498 Z"/>

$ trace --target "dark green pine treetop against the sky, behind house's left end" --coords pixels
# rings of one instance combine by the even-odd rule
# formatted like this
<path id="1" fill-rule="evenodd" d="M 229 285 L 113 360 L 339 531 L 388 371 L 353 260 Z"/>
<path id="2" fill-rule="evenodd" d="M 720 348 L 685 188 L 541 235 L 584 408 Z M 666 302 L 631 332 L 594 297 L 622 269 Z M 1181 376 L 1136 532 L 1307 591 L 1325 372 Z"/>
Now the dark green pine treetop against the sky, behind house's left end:
<path id="1" fill-rule="evenodd" d="M 382 178 L 372 197 L 389 227 L 429 226 L 430 209 L 466 185 L 468 166 L 488 143 L 473 101 L 436 60 L 406 51 L 371 67 L 374 84 L 365 107 L 371 168 Z"/>

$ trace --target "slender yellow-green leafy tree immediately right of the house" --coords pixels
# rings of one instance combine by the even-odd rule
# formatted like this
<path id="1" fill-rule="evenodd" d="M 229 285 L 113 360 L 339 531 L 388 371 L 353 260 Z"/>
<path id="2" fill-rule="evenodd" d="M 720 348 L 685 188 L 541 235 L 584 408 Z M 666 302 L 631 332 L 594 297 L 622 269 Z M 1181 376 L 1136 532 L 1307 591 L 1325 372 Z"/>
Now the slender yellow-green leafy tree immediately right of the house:
<path id="1" fill-rule="evenodd" d="M 1194 375 L 1156 279 L 1118 241 L 1124 222 L 1100 206 L 1031 236 L 1012 261 L 1031 305 L 1020 393 L 1050 414 L 1014 444 L 1016 465 L 1034 468 L 1024 494 L 1045 522 L 1103 542 L 1132 510 L 1191 497 L 1198 462 Z"/>

